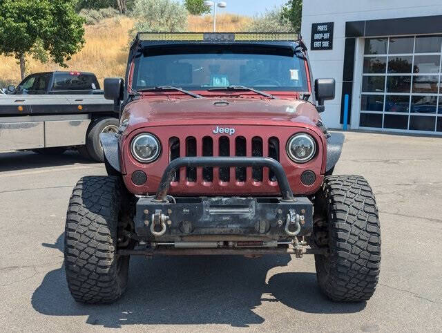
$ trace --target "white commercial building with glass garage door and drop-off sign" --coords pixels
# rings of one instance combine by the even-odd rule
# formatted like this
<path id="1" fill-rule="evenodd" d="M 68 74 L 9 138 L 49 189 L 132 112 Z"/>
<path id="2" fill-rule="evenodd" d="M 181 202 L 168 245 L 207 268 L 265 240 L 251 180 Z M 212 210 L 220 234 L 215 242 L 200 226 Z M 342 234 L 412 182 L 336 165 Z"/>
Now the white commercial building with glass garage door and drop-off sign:
<path id="1" fill-rule="evenodd" d="M 442 135 L 442 1 L 309 0 L 302 38 L 314 77 L 334 77 L 323 120 L 349 129 Z"/>

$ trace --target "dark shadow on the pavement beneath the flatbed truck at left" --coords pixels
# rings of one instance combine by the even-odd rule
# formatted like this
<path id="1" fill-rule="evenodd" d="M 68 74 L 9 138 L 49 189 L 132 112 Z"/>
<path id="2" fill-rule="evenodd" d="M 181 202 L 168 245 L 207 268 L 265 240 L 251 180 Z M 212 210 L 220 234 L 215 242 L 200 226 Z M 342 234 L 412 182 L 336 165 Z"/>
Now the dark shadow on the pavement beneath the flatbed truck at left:
<path id="1" fill-rule="evenodd" d="M 0 172 L 19 171 L 44 167 L 60 167 L 76 163 L 90 163 L 90 160 L 81 157 L 77 151 L 66 151 L 59 155 L 40 155 L 32 151 L 12 151 L 0 153 Z"/>

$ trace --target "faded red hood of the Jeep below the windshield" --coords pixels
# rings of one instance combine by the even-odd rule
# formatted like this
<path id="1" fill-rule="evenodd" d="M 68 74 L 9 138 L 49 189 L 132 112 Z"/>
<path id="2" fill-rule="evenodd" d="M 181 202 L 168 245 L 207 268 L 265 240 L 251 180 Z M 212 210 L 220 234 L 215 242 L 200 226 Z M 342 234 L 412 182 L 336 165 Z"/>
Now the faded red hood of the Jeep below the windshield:
<path id="1" fill-rule="evenodd" d="M 319 119 L 314 105 L 305 100 L 258 98 L 142 98 L 128 104 L 122 115 L 128 131 L 143 126 L 195 124 L 311 126 Z"/>

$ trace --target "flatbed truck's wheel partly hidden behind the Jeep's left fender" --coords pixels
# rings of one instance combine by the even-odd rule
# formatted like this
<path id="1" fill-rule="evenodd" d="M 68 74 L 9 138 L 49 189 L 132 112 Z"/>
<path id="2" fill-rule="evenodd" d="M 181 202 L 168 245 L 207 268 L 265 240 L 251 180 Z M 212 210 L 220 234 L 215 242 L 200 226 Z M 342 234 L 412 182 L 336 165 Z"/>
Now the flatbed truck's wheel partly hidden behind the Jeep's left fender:
<path id="1" fill-rule="evenodd" d="M 104 162 L 103 147 L 99 142 L 99 135 L 100 133 L 117 133 L 118 126 L 118 120 L 111 117 L 99 118 L 90 124 L 86 135 L 86 148 L 90 158 L 97 162 Z"/>

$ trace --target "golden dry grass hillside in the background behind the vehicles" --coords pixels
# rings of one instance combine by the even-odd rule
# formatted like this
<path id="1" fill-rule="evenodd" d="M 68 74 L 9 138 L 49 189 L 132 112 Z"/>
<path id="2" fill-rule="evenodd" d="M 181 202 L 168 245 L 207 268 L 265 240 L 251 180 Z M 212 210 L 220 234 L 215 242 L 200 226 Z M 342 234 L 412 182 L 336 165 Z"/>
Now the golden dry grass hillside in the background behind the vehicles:
<path id="1" fill-rule="evenodd" d="M 232 14 L 218 15 L 218 31 L 239 31 L 251 21 L 249 17 Z M 61 68 L 57 64 L 40 61 L 28 57 L 26 73 L 35 73 L 51 70 L 80 70 L 93 72 L 102 84 L 104 77 L 123 77 L 126 70 L 128 55 L 129 34 L 134 21 L 128 17 L 106 19 L 95 26 L 86 26 L 84 48 L 73 55 L 66 64 L 68 68 Z M 189 31 L 211 31 L 213 21 L 210 15 L 203 17 L 189 17 Z M 17 59 L 0 56 L 0 88 L 7 84 L 20 82 L 20 70 Z"/>

